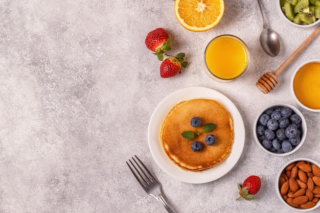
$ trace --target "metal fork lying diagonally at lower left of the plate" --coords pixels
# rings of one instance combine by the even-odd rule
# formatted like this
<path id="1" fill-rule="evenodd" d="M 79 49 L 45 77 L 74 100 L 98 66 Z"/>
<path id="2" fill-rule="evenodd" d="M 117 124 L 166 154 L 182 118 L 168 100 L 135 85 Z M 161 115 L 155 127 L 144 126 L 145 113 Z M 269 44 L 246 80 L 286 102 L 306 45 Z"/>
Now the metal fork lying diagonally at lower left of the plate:
<path id="1" fill-rule="evenodd" d="M 138 180 L 138 182 L 148 195 L 151 195 L 158 201 L 160 201 L 169 213 L 174 213 L 174 211 L 170 208 L 162 195 L 160 182 L 154 175 L 151 174 L 151 172 L 146 168 L 143 162 L 136 155 L 134 156 L 136 160 L 132 157 L 132 161 L 129 159 L 130 163 L 128 163 L 128 161 L 126 161 L 126 163 L 136 180 Z"/>

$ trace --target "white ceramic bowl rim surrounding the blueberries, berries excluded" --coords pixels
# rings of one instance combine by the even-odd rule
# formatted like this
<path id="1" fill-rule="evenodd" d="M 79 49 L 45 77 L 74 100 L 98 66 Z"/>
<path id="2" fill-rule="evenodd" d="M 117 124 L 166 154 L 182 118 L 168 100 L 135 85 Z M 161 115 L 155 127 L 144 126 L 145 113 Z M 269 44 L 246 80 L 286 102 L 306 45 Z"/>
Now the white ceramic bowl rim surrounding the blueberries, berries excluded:
<path id="1" fill-rule="evenodd" d="M 259 117 L 261 114 L 263 114 L 263 112 L 265 112 L 267 109 L 272 108 L 272 107 L 289 107 L 290 109 L 292 109 L 296 114 L 298 114 L 301 117 L 301 141 L 300 144 L 298 144 L 296 147 L 294 147 L 290 152 L 283 152 L 283 153 L 276 153 L 276 152 L 271 152 L 269 150 L 267 150 L 266 148 L 264 148 L 262 146 L 262 144 L 260 143 L 259 139 L 258 139 L 258 135 L 257 135 L 257 124 L 259 121 Z M 307 135 L 307 123 L 305 120 L 305 117 L 303 116 L 303 114 L 294 106 L 290 105 L 290 104 L 285 104 L 285 103 L 275 103 L 275 104 L 271 104 L 269 106 L 267 106 L 266 108 L 264 108 L 263 110 L 261 110 L 258 114 L 258 116 L 256 117 L 255 120 L 255 124 L 254 124 L 254 128 L 253 128 L 253 132 L 254 132 L 254 138 L 258 144 L 259 147 L 261 147 L 261 149 L 263 151 L 265 151 L 266 153 L 269 153 L 271 155 L 276 155 L 276 156 L 286 156 L 286 155 L 290 155 L 292 153 L 294 153 L 295 151 L 297 151 L 304 143 L 305 139 L 306 139 L 306 135 Z"/>

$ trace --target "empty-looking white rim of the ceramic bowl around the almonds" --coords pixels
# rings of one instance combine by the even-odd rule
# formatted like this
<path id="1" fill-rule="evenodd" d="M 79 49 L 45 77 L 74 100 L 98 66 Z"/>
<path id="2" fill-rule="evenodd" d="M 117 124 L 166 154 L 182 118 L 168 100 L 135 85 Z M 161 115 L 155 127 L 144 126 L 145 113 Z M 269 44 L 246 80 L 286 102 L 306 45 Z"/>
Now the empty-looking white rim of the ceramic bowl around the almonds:
<path id="1" fill-rule="evenodd" d="M 283 167 L 280 169 L 280 171 L 279 171 L 279 173 L 278 173 L 278 175 L 277 175 L 276 185 L 275 185 L 275 186 L 276 186 L 277 196 L 278 196 L 278 198 L 282 201 L 282 203 L 283 203 L 285 206 L 287 206 L 288 208 L 290 208 L 290 209 L 292 209 L 292 210 L 295 210 L 295 211 L 311 211 L 311 210 L 319 207 L 320 201 L 318 201 L 318 202 L 316 203 L 316 205 L 315 205 L 314 207 L 312 207 L 312 208 L 306 208 L 306 209 L 304 209 L 304 208 L 295 208 L 295 207 L 290 206 L 290 205 L 282 198 L 282 196 L 281 196 L 281 194 L 280 194 L 279 179 L 280 179 L 280 175 L 281 175 L 282 171 L 283 171 L 283 170 L 287 167 L 287 165 L 289 165 L 290 163 L 298 162 L 298 161 L 308 161 L 308 162 L 310 162 L 311 164 L 315 164 L 315 165 L 317 165 L 318 167 L 320 167 L 320 164 L 319 164 L 319 163 L 317 163 L 317 162 L 314 161 L 314 160 L 308 159 L 308 158 L 296 158 L 296 159 L 294 159 L 294 160 L 291 160 L 291 161 L 287 162 L 285 165 L 283 165 Z"/>

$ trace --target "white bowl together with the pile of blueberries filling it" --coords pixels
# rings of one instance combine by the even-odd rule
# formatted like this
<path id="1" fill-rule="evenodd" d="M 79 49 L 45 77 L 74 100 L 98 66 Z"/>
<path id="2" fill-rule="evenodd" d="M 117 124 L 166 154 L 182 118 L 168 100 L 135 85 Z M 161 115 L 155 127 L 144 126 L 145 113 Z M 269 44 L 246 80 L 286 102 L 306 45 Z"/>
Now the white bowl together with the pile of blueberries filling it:
<path id="1" fill-rule="evenodd" d="M 253 131 L 257 144 L 265 152 L 285 156 L 302 146 L 307 134 L 307 124 L 297 108 L 276 103 L 259 113 Z"/>

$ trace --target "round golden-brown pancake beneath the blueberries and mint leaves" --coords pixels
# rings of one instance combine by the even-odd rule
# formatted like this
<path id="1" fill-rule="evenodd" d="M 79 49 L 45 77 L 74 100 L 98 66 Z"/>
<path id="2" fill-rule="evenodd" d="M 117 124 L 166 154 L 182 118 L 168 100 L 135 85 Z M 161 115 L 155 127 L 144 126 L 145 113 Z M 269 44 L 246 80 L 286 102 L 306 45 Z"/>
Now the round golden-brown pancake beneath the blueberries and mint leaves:
<path id="1" fill-rule="evenodd" d="M 216 124 L 209 133 L 201 132 L 202 128 L 192 127 L 190 121 L 197 116 L 201 126 L 208 123 Z M 194 139 L 187 140 L 182 132 L 201 132 Z M 207 134 L 216 136 L 212 146 L 205 144 Z M 203 171 L 214 167 L 223 161 L 231 152 L 234 140 L 233 119 L 230 113 L 217 101 L 211 99 L 192 99 L 175 105 L 166 116 L 161 127 L 161 144 L 168 157 L 181 169 Z M 194 152 L 191 149 L 193 141 L 199 141 L 202 149 Z"/>

